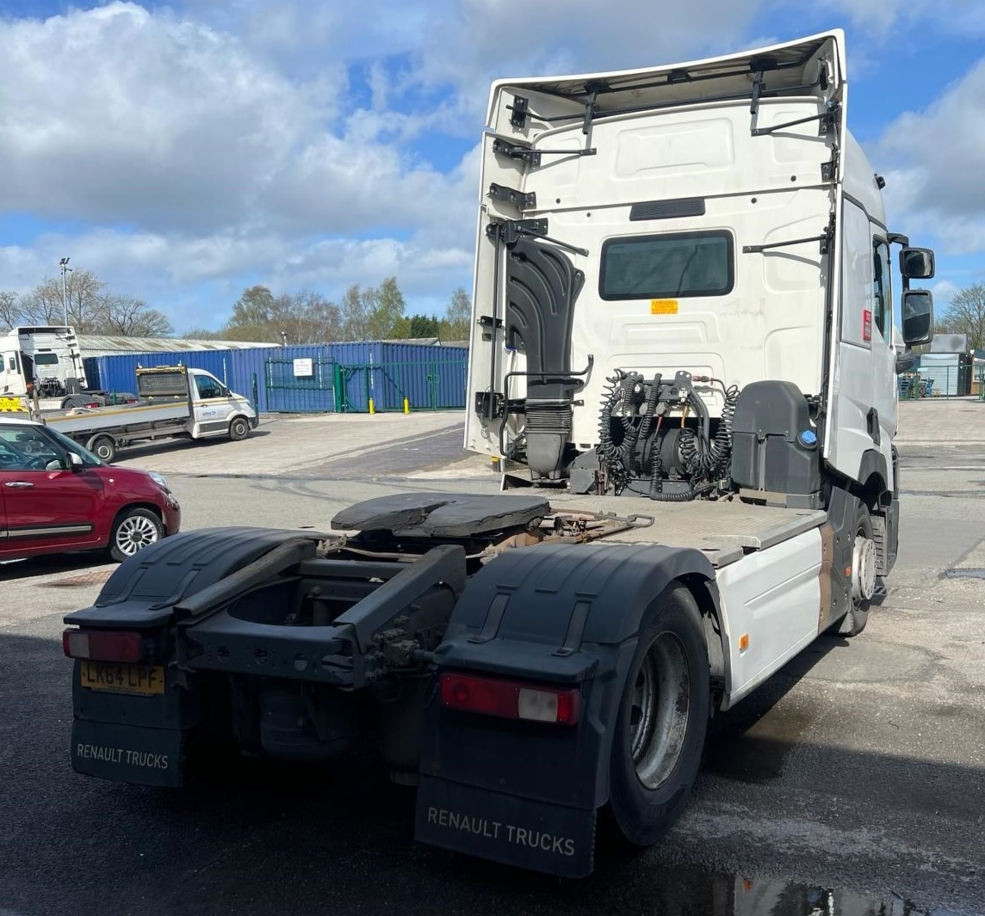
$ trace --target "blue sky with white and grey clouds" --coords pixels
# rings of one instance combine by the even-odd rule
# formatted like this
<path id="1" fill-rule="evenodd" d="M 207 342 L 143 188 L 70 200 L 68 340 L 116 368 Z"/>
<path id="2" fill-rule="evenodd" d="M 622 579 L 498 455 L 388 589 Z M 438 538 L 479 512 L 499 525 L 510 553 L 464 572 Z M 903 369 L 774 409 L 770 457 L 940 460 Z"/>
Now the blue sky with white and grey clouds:
<path id="1" fill-rule="evenodd" d="M 218 328 L 243 286 L 469 282 L 495 76 L 687 60 L 840 26 L 850 126 L 938 300 L 985 279 L 983 0 L 0 0 L 0 289 L 63 255 Z"/>

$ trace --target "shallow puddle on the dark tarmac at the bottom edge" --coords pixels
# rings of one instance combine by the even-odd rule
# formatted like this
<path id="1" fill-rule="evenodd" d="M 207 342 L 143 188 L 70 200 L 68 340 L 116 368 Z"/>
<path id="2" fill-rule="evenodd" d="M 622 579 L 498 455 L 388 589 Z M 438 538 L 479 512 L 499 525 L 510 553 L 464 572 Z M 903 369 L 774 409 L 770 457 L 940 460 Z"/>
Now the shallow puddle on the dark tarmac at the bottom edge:
<path id="1" fill-rule="evenodd" d="M 972 916 L 925 908 L 912 900 L 766 878 L 744 878 L 688 869 L 659 873 L 647 896 L 652 916 Z"/>

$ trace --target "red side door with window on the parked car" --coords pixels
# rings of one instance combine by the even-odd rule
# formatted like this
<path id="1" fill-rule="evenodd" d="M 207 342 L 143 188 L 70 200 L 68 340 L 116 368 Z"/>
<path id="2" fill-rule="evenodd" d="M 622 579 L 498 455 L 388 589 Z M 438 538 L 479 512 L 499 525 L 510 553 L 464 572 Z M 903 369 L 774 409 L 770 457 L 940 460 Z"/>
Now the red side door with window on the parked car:
<path id="1" fill-rule="evenodd" d="M 42 426 L 0 426 L 0 490 L 7 552 L 83 549 L 105 538 L 102 479 L 93 468 L 73 470 Z"/>

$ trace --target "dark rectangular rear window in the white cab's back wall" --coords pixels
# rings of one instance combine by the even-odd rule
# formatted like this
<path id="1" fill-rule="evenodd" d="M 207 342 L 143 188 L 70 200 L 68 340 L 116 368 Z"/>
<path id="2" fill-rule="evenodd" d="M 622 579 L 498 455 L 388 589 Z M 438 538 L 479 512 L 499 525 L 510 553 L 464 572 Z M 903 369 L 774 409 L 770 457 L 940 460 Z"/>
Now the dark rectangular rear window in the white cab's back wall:
<path id="1" fill-rule="evenodd" d="M 732 233 L 611 238 L 602 246 L 603 299 L 723 296 L 735 285 Z"/>

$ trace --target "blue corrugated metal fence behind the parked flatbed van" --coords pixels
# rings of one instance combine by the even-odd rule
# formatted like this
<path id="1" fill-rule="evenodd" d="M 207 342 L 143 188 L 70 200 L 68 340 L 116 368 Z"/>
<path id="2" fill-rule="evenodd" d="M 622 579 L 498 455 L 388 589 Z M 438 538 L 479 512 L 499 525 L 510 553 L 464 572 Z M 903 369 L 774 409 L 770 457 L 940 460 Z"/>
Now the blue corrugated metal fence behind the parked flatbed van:
<path id="1" fill-rule="evenodd" d="M 264 411 L 366 412 L 465 406 L 468 349 L 386 340 L 98 356 L 86 359 L 90 387 L 132 392 L 138 366 L 205 369 Z"/>

